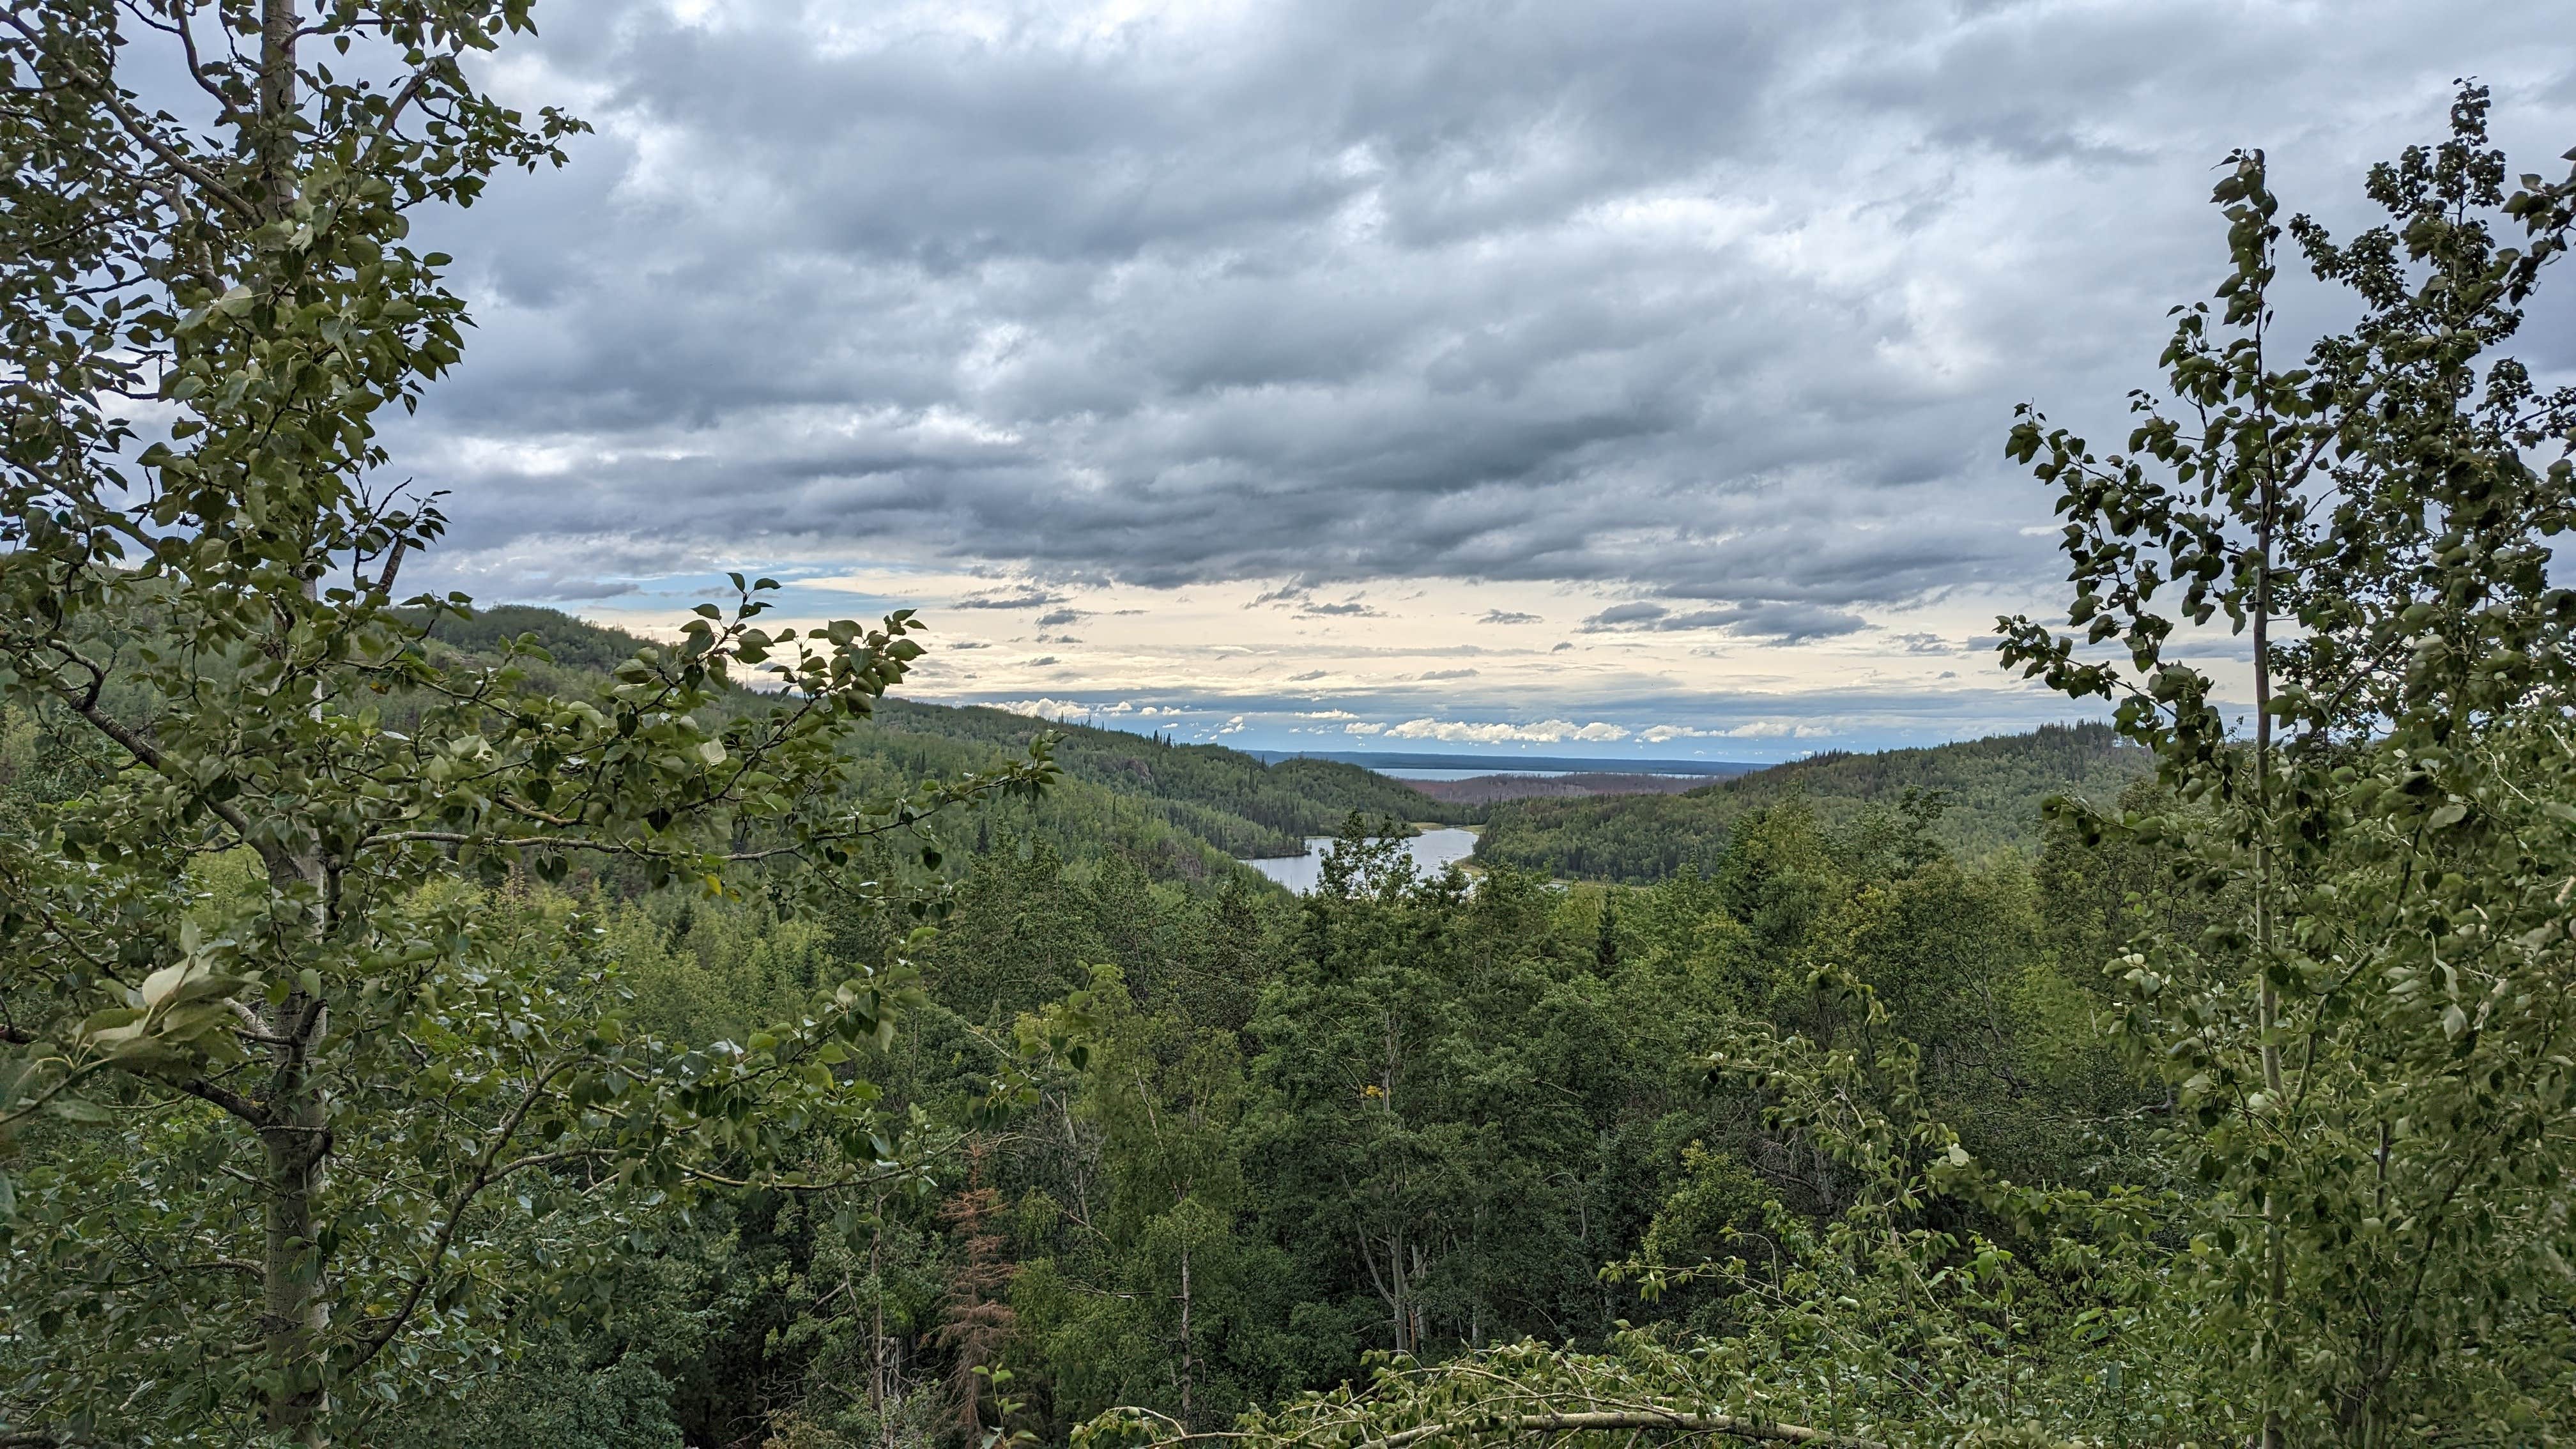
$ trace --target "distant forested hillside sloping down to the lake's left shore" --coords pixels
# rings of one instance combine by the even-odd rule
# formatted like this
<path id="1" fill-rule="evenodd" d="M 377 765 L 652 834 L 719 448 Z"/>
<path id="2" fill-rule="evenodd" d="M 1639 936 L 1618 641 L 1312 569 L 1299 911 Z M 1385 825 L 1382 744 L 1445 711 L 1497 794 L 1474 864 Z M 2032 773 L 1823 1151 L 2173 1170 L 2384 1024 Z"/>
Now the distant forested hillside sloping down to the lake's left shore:
<path id="1" fill-rule="evenodd" d="M 495 652 L 518 634 L 536 634 L 564 673 L 605 673 L 647 642 L 623 629 L 518 603 L 438 627 L 438 639 L 469 655 Z M 886 761 L 891 776 L 912 779 L 992 766 L 1028 750 L 1041 732 L 1056 735 L 1064 784 L 1036 807 L 989 810 L 984 830 L 1028 828 L 1069 859 L 1115 846 L 1164 877 L 1224 869 L 1216 856 L 1301 853 L 1306 835 L 1334 833 L 1352 810 L 1443 822 L 1479 815 L 1476 807 L 1430 799 L 1360 766 L 1265 766 L 1224 745 L 1167 745 L 1123 730 L 909 699 L 881 701 L 855 748 Z"/>

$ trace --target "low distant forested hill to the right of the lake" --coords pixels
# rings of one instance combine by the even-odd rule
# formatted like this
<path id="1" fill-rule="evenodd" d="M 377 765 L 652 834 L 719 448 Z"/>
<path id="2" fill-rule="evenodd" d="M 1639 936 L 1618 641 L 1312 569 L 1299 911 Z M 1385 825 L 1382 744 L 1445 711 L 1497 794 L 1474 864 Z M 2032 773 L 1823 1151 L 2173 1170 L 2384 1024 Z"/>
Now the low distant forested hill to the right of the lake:
<path id="1" fill-rule="evenodd" d="M 2050 794 L 2107 799 L 2146 773 L 2146 750 L 2117 745 L 2107 724 L 2043 724 L 2030 735 L 1991 735 L 1875 755 L 1826 753 L 1685 794 L 1595 799 L 1515 799 L 1489 807 L 1476 859 L 1574 879 L 1654 882 L 1682 864 L 1713 861 L 1736 815 L 1806 799 L 1824 822 L 1868 804 L 1896 804 L 1909 789 L 1945 792 L 1935 835 L 1958 853 L 2038 843 L 2040 802 Z"/>

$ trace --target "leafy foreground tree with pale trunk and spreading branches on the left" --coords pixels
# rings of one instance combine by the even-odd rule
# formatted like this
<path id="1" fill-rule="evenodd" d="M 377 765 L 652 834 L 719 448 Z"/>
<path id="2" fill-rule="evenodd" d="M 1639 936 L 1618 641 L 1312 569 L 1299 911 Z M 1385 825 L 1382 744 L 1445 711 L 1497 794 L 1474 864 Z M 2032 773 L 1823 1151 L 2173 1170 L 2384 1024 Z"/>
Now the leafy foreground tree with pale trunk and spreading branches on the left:
<path id="1" fill-rule="evenodd" d="M 876 841 L 1048 771 L 860 797 L 842 740 L 914 624 L 765 629 L 768 580 L 592 691 L 536 688 L 526 642 L 433 660 L 464 601 L 397 608 L 443 521 L 376 490 L 371 418 L 464 327 L 407 211 L 574 129 L 461 64 L 526 5 L 137 18 L 206 124 L 139 108 L 118 8 L 0 31 L 0 694 L 90 766 L 0 838 L 0 1415 L 322 1444 L 600 1292 L 696 1181 L 811 1186 L 799 1134 L 907 1171 L 842 1070 L 902 962 L 685 1047 L 626 1026 L 592 918 L 533 882 L 881 897 Z"/>

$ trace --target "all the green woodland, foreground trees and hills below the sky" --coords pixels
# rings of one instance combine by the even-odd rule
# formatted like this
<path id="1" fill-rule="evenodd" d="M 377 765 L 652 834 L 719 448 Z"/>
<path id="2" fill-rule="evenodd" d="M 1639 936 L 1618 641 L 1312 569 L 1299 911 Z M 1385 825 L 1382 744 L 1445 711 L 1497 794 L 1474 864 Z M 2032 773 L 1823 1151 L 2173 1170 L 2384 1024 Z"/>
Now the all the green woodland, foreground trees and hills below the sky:
<path id="1" fill-rule="evenodd" d="M 1422 877 L 1468 807 L 907 704 L 912 611 L 404 585 L 526 5 L 134 36 L 224 144 L 116 15 L 0 31 L 0 1446 L 2576 1436 L 2576 173 L 2486 90 L 2342 240 L 2226 157 L 2117 451 L 1999 428 L 2081 724 Z"/>

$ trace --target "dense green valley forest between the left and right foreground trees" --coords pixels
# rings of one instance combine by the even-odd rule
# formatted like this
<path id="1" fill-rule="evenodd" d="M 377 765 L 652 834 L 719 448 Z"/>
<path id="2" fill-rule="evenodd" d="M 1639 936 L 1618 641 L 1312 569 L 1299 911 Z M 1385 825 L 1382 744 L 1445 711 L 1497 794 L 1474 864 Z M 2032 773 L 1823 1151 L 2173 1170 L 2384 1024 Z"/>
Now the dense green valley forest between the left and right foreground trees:
<path id="1" fill-rule="evenodd" d="M 95 789 L 46 768 L 70 758 L 77 740 L 15 717 L 13 825 Z M 505 1294 L 507 1348 L 451 1369 L 461 1405 L 422 1400 L 417 1423 L 389 1408 L 363 1436 L 1061 1441 L 1113 1408 L 1221 1426 L 1365 1379 L 1376 1351 L 1437 1361 L 1723 1323 L 1723 1292 L 1646 1299 L 1602 1269 L 1723 1258 L 1765 1214 L 1852 1207 L 1857 1181 L 1770 1132 L 1762 1093 L 1703 1060 L 1752 1024 L 1862 1039 L 1870 1013 L 1816 980 L 1829 959 L 1880 982 L 1880 1029 L 1927 1055 L 1932 1101 L 2017 1173 L 2115 1158 L 2069 1145 L 2154 1104 L 2056 967 L 2102 951 L 2123 913 L 2071 838 L 1978 871 L 1924 812 L 1826 825 L 1793 799 L 1739 822 L 1708 874 L 1569 892 L 1507 866 L 1473 887 L 1419 879 L 1352 817 L 1327 887 L 1288 897 L 1247 874 L 1157 882 L 1100 841 L 1066 861 L 979 830 L 927 941 L 765 892 L 639 895 L 616 871 L 479 887 L 482 931 L 528 954 L 492 969 L 587 975 L 590 1011 L 667 1042 L 757 1039 L 845 962 L 907 951 L 922 998 L 848 1067 L 927 1160 L 832 1191 L 698 1191 L 605 1276 Z M 209 920 L 260 890 L 222 856 L 193 884 Z M 2087 910 L 2043 923 L 2043 890 Z M 1012 1096 L 994 1106 L 999 1078 Z M 106 1227 L 88 1217 L 98 1194 L 173 1183 L 118 1186 L 116 1134 L 41 1140 L 54 1160 L 21 1186 L 13 1232 L 46 1250 L 23 1271 L 118 1271 L 121 1243 L 82 1232 Z M 634 1230 L 564 1201 L 492 1248 L 595 1253 L 585 1238 Z"/>

